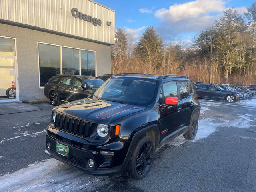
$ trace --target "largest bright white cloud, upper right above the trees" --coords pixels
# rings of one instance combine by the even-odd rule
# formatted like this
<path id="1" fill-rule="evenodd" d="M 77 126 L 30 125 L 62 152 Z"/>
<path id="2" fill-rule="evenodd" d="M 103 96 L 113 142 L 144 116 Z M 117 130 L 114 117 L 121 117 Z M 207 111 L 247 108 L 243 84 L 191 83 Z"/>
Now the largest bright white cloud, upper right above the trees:
<path id="1" fill-rule="evenodd" d="M 228 8 L 225 4 L 225 0 L 194 0 L 161 8 L 154 13 L 162 21 L 156 29 L 164 39 L 177 40 L 181 33 L 195 33 L 212 26 Z M 236 9 L 241 14 L 246 12 L 244 6 Z"/>

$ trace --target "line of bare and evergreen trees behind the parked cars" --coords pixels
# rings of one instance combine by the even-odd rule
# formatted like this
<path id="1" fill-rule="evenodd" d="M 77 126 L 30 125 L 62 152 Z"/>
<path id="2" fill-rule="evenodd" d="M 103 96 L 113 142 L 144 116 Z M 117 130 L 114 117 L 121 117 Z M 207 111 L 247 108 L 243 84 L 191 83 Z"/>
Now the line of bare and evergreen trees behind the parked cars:
<path id="1" fill-rule="evenodd" d="M 235 8 L 224 10 L 190 46 L 164 42 L 152 26 L 134 43 L 117 28 L 118 42 L 111 46 L 112 74 L 182 74 L 204 83 L 210 78 L 210 83 L 217 84 L 256 84 L 255 30 L 256 2 L 244 14 Z"/>

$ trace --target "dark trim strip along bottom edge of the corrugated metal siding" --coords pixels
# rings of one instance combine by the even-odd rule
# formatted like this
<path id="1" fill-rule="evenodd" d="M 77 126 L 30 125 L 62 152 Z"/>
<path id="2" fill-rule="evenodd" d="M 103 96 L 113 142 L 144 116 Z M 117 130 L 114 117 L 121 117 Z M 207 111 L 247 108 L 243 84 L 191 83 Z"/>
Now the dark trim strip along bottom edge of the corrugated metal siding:
<path id="1" fill-rule="evenodd" d="M 92 0 L 90 0 L 90 1 L 92 1 Z M 23 28 L 28 28 L 28 29 L 37 30 L 37 31 L 42 31 L 42 32 L 51 33 L 51 34 L 55 34 L 55 35 L 69 37 L 69 38 L 84 40 L 84 41 L 88 41 L 88 42 L 98 43 L 98 44 L 107 45 L 107 46 L 114 45 L 111 43 L 106 43 L 106 42 L 101 42 L 101 41 L 97 41 L 97 40 L 93 40 L 93 39 L 79 37 L 79 36 L 75 36 L 75 35 L 71 35 L 71 34 L 67 34 L 67 33 L 62 33 L 62 32 L 58 32 L 58 31 L 49 30 L 49 29 L 32 26 L 32 25 L 28 25 L 28 24 L 23 24 L 23 23 L 19 23 L 19 22 L 14 22 L 14 21 L 10 21 L 10 20 L 0 19 L 0 23 L 9 24 L 12 26 L 23 27 Z"/>

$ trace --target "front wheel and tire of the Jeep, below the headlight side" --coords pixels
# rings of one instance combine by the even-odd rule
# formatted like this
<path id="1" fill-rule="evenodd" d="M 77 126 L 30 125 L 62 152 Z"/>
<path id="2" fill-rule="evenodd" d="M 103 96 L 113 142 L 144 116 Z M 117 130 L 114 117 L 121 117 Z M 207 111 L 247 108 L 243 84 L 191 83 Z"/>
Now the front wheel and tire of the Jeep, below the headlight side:
<path id="1" fill-rule="evenodd" d="M 144 178 L 153 163 L 155 154 L 155 146 L 150 136 L 140 138 L 132 152 L 130 161 L 128 162 L 127 170 L 131 177 L 135 179 Z"/>

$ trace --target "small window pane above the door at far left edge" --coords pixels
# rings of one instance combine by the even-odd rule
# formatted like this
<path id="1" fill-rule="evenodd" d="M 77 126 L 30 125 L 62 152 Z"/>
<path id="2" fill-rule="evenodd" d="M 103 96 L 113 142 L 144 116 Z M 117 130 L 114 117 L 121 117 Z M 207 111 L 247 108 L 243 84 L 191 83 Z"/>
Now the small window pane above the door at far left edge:
<path id="1" fill-rule="evenodd" d="M 0 55 L 15 55 L 14 39 L 0 37 Z"/>

